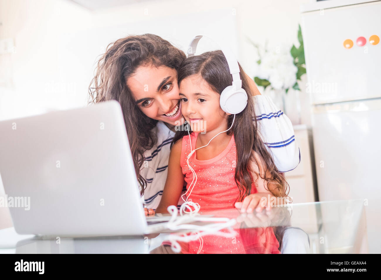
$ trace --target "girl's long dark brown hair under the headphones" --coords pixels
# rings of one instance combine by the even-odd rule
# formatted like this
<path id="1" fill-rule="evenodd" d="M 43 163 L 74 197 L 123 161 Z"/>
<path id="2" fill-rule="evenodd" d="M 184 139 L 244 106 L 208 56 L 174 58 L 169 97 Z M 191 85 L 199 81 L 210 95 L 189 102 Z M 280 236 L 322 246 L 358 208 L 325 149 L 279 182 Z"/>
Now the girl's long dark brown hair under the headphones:
<path id="1" fill-rule="evenodd" d="M 245 109 L 239 114 L 235 115 L 233 127 L 227 131 L 228 135 L 234 133 L 235 146 L 237 149 L 237 163 L 235 167 L 235 182 L 240 190 L 239 199 L 250 194 L 252 178 L 250 176 L 249 166 L 251 162 L 258 165 L 258 162 L 252 151 L 255 151 L 262 162 L 265 170 L 268 170 L 267 175 L 262 177 L 256 171 L 253 172 L 256 176 L 260 176 L 266 180 L 267 183 L 272 183 L 276 187 L 269 190 L 276 197 L 287 197 L 287 181 L 282 173 L 279 172 L 274 164 L 272 155 L 267 150 L 259 136 L 258 124 L 254 111 L 254 103 L 245 75 L 242 75 L 243 70 L 240 68 L 240 77 L 242 80 L 242 88 L 248 95 L 248 102 Z M 221 94 L 221 92 L 229 85 L 232 85 L 232 75 L 229 71 L 226 58 L 222 51 L 208 51 L 198 56 L 191 56 L 186 58 L 180 66 L 178 71 L 178 84 L 191 75 L 200 74 L 201 77 L 210 85 L 210 87 Z M 232 125 L 234 115 L 228 117 L 228 127 Z M 187 131 L 177 131 L 173 143 L 187 135 Z"/>

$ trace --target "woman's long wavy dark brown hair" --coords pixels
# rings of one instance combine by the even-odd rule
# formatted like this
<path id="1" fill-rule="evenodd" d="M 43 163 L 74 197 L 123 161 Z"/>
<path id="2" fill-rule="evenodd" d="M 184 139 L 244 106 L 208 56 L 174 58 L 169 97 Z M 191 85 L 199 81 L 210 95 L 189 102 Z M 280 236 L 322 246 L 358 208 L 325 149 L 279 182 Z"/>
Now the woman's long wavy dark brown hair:
<path id="1" fill-rule="evenodd" d="M 131 35 L 107 46 L 89 86 L 89 104 L 116 100 L 122 107 L 141 194 L 147 182 L 140 175 L 140 168 L 144 162 L 144 151 L 157 142 L 155 131 L 152 131 L 157 120 L 147 117 L 135 104 L 127 79 L 139 66 L 146 64 L 178 70 L 185 58 L 183 51 L 157 35 Z"/>

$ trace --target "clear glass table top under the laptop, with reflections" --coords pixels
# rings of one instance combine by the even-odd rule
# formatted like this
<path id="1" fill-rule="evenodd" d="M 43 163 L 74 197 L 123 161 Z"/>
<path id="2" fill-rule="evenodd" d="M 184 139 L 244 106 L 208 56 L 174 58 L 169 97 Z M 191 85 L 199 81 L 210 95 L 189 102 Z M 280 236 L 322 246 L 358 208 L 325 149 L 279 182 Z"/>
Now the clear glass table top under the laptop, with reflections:
<path id="1" fill-rule="evenodd" d="M 0 253 L 368 253 L 363 200 L 281 205 L 252 214 L 223 209 L 201 216 L 232 223 L 219 230 L 210 229 L 217 222 L 197 222 L 205 229 L 59 240 L 8 228 L 0 230 Z"/>

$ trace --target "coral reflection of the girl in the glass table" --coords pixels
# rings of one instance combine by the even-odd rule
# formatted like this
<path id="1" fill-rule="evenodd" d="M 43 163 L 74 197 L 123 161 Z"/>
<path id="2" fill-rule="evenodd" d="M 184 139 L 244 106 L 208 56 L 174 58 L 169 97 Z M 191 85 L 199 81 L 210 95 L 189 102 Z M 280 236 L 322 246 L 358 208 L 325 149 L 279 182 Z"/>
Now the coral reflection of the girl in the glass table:
<path id="1" fill-rule="evenodd" d="M 215 234 L 203 234 L 200 231 L 171 234 L 168 240 L 150 253 L 280 254 L 285 230 L 290 226 L 291 217 L 286 207 L 250 214 L 241 214 L 236 209 L 221 210 L 218 213 L 208 211 L 202 214 L 214 214 L 215 217 L 235 219 L 237 222 L 233 227 L 219 230 Z M 269 226 L 273 223 L 281 226 Z M 305 236 L 307 237 L 307 234 Z M 297 242 L 303 245 L 306 238 L 298 239 Z"/>

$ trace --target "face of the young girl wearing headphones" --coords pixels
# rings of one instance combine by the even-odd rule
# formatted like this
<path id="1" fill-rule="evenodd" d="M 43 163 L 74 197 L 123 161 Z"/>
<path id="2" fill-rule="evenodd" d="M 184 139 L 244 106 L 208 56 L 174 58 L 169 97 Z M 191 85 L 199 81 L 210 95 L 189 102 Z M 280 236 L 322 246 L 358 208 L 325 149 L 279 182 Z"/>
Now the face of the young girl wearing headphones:
<path id="1" fill-rule="evenodd" d="M 181 112 L 192 131 L 216 133 L 227 129 L 227 117 L 219 106 L 220 94 L 210 88 L 201 75 L 184 78 L 180 83 Z"/>

